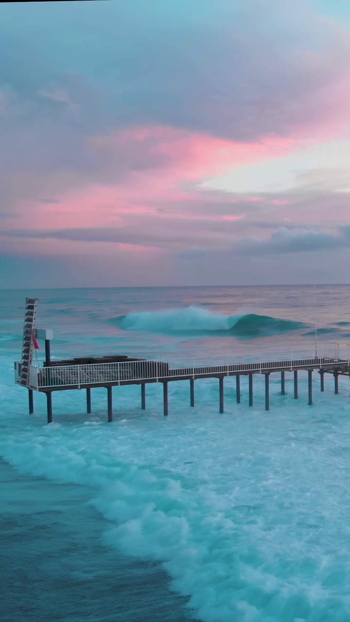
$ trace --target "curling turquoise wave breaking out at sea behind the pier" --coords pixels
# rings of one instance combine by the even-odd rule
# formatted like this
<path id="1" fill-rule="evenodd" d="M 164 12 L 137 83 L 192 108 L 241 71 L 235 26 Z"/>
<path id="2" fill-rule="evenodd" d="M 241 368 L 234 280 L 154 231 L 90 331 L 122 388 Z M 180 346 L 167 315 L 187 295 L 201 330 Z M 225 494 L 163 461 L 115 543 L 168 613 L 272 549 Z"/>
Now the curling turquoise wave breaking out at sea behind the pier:
<path id="1" fill-rule="evenodd" d="M 181 310 L 129 313 L 111 318 L 122 330 L 146 330 L 155 333 L 186 335 L 232 335 L 239 338 L 268 337 L 305 328 L 301 322 L 281 320 L 268 315 L 220 315 L 206 309 L 186 307 Z"/>

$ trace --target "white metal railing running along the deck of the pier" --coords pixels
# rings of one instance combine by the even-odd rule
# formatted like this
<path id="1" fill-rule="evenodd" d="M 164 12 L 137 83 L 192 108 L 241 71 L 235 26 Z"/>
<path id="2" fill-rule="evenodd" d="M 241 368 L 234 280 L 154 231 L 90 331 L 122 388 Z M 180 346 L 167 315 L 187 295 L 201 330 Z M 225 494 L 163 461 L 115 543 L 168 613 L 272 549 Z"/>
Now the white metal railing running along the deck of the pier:
<path id="1" fill-rule="evenodd" d="M 54 361 L 53 361 L 54 362 Z M 134 360 L 118 363 L 32 365 L 29 387 L 36 390 L 120 384 L 137 381 L 158 381 L 201 377 L 213 374 L 267 373 L 278 369 L 321 368 L 334 363 L 350 363 L 350 348 L 338 344 L 315 344 L 308 348 L 289 350 L 287 348 L 259 353 L 225 353 L 206 356 L 181 356 L 162 354 L 152 360 Z M 15 364 L 16 382 L 21 378 L 21 363 Z"/>

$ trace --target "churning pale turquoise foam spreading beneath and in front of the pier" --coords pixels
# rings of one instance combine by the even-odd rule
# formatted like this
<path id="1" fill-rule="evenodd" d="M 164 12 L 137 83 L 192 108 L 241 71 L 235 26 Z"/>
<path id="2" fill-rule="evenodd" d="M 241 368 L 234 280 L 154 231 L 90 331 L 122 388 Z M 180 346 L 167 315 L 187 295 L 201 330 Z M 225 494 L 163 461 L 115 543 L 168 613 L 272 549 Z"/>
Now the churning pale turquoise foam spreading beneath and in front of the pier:
<path id="1" fill-rule="evenodd" d="M 331 381 L 321 394 L 315 379 L 308 407 L 305 379 L 295 401 L 291 376 L 284 397 L 272 376 L 265 412 L 263 378 L 253 408 L 245 379 L 239 406 L 225 379 L 224 415 L 217 381 L 196 382 L 195 409 L 187 384 L 169 385 L 168 418 L 161 386 L 148 386 L 146 412 L 140 388 L 114 389 L 111 425 L 99 425 L 102 390 L 92 392 L 93 415 L 81 392 L 54 394 L 50 426 L 44 396 L 35 396 L 39 419 L 29 418 L 26 392 L 8 384 L 0 453 L 23 472 L 93 486 L 92 503 L 111 521 L 105 542 L 161 560 L 205 622 L 347 622 L 348 383 L 334 396 Z"/>

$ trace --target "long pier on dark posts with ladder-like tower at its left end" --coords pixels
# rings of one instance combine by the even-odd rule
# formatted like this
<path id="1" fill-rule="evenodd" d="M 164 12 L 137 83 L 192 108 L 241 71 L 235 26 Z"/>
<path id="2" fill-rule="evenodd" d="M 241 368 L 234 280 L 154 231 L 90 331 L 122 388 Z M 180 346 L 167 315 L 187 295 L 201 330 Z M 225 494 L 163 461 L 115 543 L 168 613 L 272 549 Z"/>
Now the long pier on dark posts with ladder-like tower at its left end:
<path id="1" fill-rule="evenodd" d="M 280 374 L 281 395 L 285 395 L 285 373 L 293 372 L 293 397 L 298 399 L 298 371 L 308 372 L 308 404 L 313 403 L 313 372 L 319 373 L 320 389 L 324 391 L 324 374 L 334 378 L 338 393 L 339 376 L 350 377 L 350 348 L 338 344 L 306 345 L 297 350 L 282 348 L 260 353 L 224 353 L 206 356 L 159 355 L 133 358 L 127 355 L 78 357 L 64 360 L 50 358 L 49 329 L 36 327 L 37 299 L 26 300 L 22 360 L 15 363 L 15 381 L 29 391 L 29 413 L 34 412 L 34 391 L 47 397 L 47 422 L 52 422 L 52 393 L 85 390 L 87 413 L 92 412 L 91 389 L 106 388 L 108 422 L 113 420 L 112 388 L 138 384 L 141 386 L 141 409 L 146 408 L 146 385 L 163 384 L 163 414 L 168 415 L 168 384 L 189 381 L 191 407 L 195 401 L 195 381 L 217 378 L 219 381 L 219 412 L 224 412 L 224 379 L 236 378 L 236 400 L 241 401 L 240 378 L 248 376 L 248 404 L 253 406 L 253 377 L 265 376 L 265 409 L 270 409 L 270 374 Z M 37 340 L 45 341 L 45 360 L 34 361 Z"/>

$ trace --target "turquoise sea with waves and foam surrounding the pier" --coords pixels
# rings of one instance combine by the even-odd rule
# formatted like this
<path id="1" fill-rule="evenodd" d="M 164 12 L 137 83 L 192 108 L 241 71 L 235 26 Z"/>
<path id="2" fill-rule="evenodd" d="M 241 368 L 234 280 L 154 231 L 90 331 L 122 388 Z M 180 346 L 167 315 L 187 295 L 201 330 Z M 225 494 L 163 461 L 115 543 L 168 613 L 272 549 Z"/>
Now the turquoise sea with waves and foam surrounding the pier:
<path id="1" fill-rule="evenodd" d="M 299 399 L 225 378 L 45 396 L 14 384 L 26 296 L 52 358 L 350 343 L 350 285 L 0 292 L 0 610 L 4 622 L 349 622 L 350 384 Z M 42 351 L 39 357 L 43 356 Z"/>

